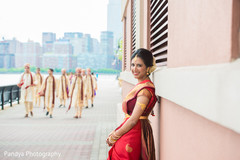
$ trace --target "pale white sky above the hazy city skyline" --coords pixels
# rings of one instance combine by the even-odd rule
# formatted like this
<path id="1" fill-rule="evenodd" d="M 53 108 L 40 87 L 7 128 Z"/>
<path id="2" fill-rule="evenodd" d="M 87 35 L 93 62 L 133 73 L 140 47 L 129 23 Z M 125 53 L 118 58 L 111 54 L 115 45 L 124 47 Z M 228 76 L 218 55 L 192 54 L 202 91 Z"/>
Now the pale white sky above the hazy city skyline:
<path id="1" fill-rule="evenodd" d="M 42 32 L 82 32 L 100 39 L 108 0 L 1 0 L 0 40 L 42 41 Z"/>

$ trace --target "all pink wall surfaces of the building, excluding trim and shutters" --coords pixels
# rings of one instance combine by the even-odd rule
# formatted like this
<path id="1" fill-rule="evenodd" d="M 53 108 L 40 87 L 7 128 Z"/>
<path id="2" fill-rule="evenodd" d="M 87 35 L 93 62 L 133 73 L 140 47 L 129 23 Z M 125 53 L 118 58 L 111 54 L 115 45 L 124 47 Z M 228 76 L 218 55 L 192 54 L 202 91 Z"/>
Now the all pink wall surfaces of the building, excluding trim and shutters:
<path id="1" fill-rule="evenodd" d="M 129 1 L 130 2 L 130 1 Z M 141 47 L 149 48 L 144 1 Z M 240 55 L 240 0 L 168 1 L 169 68 L 231 62 Z M 130 5 L 127 15 L 130 17 Z M 127 70 L 131 25 L 127 20 Z M 157 80 L 155 80 L 156 88 Z M 123 81 L 122 98 L 134 85 Z M 156 156 L 161 160 L 240 160 L 240 134 L 167 99 L 156 104 L 152 122 Z"/>

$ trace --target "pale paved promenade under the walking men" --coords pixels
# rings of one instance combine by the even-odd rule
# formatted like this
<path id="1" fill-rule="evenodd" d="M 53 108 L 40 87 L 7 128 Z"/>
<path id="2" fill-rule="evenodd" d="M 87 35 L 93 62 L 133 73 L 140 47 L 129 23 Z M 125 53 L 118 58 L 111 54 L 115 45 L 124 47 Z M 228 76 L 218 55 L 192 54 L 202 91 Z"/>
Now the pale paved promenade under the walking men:
<path id="1" fill-rule="evenodd" d="M 105 160 L 105 139 L 117 127 L 119 103 L 116 76 L 100 75 L 95 105 L 83 109 L 81 119 L 73 118 L 74 107 L 68 113 L 58 108 L 58 100 L 52 119 L 42 107 L 34 107 L 29 118 L 22 104 L 0 111 L 0 159 Z"/>

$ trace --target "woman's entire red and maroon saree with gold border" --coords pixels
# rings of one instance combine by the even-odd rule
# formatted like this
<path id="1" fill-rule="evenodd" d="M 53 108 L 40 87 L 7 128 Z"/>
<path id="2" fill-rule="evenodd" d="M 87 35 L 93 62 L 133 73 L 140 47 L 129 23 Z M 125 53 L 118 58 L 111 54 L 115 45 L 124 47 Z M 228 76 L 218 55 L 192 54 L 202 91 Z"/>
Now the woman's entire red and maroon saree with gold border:
<path id="1" fill-rule="evenodd" d="M 152 128 L 147 117 L 151 113 L 157 98 L 155 87 L 150 80 L 138 83 L 124 99 L 122 109 L 126 114 L 126 118 L 116 130 L 121 128 L 129 116 L 131 116 L 137 96 L 143 89 L 147 89 L 150 93 L 149 103 L 138 123 L 112 146 L 108 153 L 108 160 L 155 160 Z"/>

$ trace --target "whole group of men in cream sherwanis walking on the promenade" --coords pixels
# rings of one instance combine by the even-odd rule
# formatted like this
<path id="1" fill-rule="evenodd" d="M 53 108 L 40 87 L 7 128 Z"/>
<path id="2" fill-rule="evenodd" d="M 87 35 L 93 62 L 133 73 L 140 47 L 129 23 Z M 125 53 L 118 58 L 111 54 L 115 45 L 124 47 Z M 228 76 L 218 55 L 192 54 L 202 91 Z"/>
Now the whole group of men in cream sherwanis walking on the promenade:
<path id="1" fill-rule="evenodd" d="M 48 76 L 44 79 L 40 73 L 40 68 L 37 68 L 36 74 L 30 72 L 30 64 L 24 65 L 24 73 L 21 75 L 18 87 L 21 88 L 21 102 L 25 105 L 25 117 L 33 116 L 33 102 L 36 106 L 41 105 L 41 98 L 44 97 L 44 108 L 47 109 L 46 116 L 53 117 L 53 108 L 56 98 L 59 99 L 59 107 L 66 107 L 66 102 L 69 99 L 69 106 L 75 107 L 74 118 L 81 118 L 83 107 L 88 108 L 88 101 L 93 100 L 97 90 L 97 80 L 91 74 L 91 70 L 76 68 L 75 75 L 67 76 L 66 70 L 62 69 L 62 75 L 59 79 L 53 75 L 54 70 L 48 70 Z M 86 74 L 87 71 L 87 74 Z"/>

